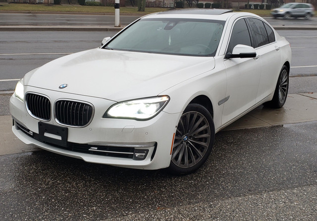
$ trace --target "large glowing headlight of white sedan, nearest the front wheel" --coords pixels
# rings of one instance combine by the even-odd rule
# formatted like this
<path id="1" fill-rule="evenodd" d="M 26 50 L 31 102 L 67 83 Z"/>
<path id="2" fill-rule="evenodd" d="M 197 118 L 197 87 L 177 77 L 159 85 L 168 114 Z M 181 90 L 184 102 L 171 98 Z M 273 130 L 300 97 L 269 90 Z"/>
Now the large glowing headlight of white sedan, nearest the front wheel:
<path id="1" fill-rule="evenodd" d="M 155 117 L 169 101 L 168 96 L 125 101 L 111 106 L 104 118 L 148 120 Z"/>

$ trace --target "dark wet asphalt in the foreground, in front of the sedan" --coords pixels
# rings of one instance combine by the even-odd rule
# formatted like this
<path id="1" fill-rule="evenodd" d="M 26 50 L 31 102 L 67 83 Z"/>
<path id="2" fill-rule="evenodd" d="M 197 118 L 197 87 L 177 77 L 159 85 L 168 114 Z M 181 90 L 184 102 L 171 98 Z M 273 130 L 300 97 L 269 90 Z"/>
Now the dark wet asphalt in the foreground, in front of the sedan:
<path id="1" fill-rule="evenodd" d="M 219 132 L 187 176 L 47 151 L 0 156 L 0 220 L 316 220 L 316 131 L 307 122 Z"/>

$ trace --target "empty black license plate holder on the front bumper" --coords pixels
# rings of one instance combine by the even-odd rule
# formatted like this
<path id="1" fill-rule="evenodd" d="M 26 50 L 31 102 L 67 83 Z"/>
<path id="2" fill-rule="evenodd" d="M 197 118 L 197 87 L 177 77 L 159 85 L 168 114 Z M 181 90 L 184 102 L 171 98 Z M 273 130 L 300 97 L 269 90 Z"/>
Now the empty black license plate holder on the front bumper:
<path id="1" fill-rule="evenodd" d="M 39 122 L 39 141 L 67 147 L 68 128 Z"/>

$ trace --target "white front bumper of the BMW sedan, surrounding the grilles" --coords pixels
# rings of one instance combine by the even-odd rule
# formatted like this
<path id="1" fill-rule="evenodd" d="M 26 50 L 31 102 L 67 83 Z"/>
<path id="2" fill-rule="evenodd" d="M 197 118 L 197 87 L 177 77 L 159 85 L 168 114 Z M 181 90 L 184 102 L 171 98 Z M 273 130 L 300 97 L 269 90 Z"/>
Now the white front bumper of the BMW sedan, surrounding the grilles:
<path id="1" fill-rule="evenodd" d="M 25 104 L 13 94 L 10 98 L 10 112 L 14 120 L 12 131 L 25 144 L 90 163 L 138 169 L 169 166 L 173 134 L 181 113 L 169 114 L 161 111 L 156 117 L 146 121 L 103 118 L 106 109 L 114 102 L 31 87 L 28 91 L 48 96 L 52 104 L 59 98 L 89 102 L 94 105 L 95 113 L 90 124 L 81 128 L 59 125 L 54 117 L 43 122 L 53 128 L 67 128 L 66 145 L 59 145 L 58 141 L 51 142 L 50 133 L 47 134 L 50 138 L 43 141 L 43 134 L 41 135 L 39 129 L 39 122 L 42 121 L 32 117 L 26 111 Z"/>

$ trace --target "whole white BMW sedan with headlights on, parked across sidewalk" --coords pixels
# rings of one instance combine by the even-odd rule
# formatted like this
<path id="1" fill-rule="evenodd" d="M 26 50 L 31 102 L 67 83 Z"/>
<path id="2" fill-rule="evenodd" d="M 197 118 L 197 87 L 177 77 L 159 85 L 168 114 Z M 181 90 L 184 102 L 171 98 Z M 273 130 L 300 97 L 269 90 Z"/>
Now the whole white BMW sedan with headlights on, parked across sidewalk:
<path id="1" fill-rule="evenodd" d="M 21 141 L 86 162 L 187 174 L 207 160 L 216 132 L 287 97 L 290 45 L 251 13 L 159 12 L 103 42 L 18 82 L 10 112 Z"/>

